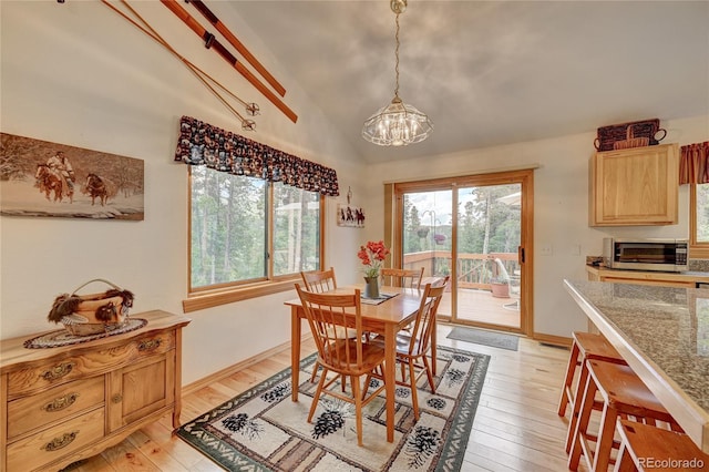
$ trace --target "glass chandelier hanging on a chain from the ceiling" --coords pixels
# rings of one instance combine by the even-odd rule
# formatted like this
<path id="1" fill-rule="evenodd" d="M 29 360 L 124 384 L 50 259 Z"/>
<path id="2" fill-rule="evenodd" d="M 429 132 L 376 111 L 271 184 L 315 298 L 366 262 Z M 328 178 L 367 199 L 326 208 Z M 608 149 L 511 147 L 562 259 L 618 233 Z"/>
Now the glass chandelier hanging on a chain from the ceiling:
<path id="1" fill-rule="evenodd" d="M 362 137 L 380 146 L 405 146 L 420 143 L 433 131 L 433 123 L 413 105 L 399 98 L 399 14 L 407 9 L 407 0 L 391 0 L 391 10 L 397 14 L 397 86 L 391 103 L 371 115 L 362 127 Z"/>

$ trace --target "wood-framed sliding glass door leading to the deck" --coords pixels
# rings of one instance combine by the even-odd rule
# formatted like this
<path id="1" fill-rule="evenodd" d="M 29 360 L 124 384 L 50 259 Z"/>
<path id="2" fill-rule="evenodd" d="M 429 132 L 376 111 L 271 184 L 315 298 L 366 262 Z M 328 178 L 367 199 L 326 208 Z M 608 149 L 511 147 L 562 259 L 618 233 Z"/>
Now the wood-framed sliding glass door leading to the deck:
<path id="1" fill-rule="evenodd" d="M 532 171 L 394 185 L 397 265 L 448 277 L 439 317 L 528 334 Z"/>

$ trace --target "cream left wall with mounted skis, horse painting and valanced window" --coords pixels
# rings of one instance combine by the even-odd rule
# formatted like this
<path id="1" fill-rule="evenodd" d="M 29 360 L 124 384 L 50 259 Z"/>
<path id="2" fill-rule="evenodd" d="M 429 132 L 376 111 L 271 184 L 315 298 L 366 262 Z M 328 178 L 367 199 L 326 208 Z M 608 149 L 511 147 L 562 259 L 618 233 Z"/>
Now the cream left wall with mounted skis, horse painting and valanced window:
<path id="1" fill-rule="evenodd" d="M 0 217 L 0 338 L 55 329 L 54 297 L 93 278 L 135 293 L 133 314 L 182 312 L 187 288 L 187 166 L 173 162 L 178 120 L 195 116 L 335 167 L 343 194 L 327 198 L 328 260 L 342 283 L 357 276 L 361 229 L 335 225 L 348 186 L 360 196 L 362 168 L 298 84 L 278 69 L 248 25 L 230 28 L 287 90 L 290 122 L 160 2 L 131 2 L 183 55 L 244 100 L 256 101 L 257 131 L 240 124 L 161 45 L 101 2 L 1 2 L 2 132 L 145 161 L 145 220 Z M 166 34 L 172 30 L 173 34 Z M 328 136 L 327 138 L 322 136 Z M 366 202 L 362 202 L 366 204 Z M 346 248 L 341 250 L 340 248 Z M 102 289 L 99 286 L 99 289 Z M 290 339 L 284 300 L 295 291 L 188 314 L 184 382 Z"/>

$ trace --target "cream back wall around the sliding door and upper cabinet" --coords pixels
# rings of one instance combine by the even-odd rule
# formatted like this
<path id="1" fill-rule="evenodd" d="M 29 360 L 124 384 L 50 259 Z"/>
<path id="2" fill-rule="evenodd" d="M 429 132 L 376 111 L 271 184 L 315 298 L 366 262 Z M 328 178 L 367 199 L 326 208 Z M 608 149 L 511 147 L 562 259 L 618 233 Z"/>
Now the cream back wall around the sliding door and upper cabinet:
<path id="1" fill-rule="evenodd" d="M 709 115 L 675 121 L 660 117 L 660 124 L 668 132 L 664 144 L 709 140 Z M 588 158 L 595 152 L 595 137 L 593 130 L 553 140 L 389 162 L 376 165 L 369 175 L 386 176 L 381 182 L 395 182 L 538 165 L 534 172 L 534 332 L 569 337 L 573 330 L 583 330 L 587 324 L 562 283 L 565 278 L 586 279 L 585 258 L 600 255 L 605 236 L 688 237 L 689 234 L 686 186 L 679 191 L 677 225 L 588 227 Z M 372 192 L 377 187 L 372 185 Z M 381 191 L 376 197 L 383 198 Z M 540 254 L 542 245 L 552 246 L 551 256 Z M 573 255 L 576 245 L 580 245 L 579 256 Z"/>

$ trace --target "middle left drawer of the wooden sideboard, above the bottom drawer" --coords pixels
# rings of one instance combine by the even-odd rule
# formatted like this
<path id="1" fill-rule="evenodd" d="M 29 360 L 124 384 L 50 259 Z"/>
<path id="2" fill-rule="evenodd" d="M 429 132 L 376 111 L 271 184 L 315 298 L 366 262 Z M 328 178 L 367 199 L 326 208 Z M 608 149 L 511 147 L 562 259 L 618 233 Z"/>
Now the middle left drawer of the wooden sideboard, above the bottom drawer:
<path id="1" fill-rule="evenodd" d="M 8 439 L 103 404 L 105 377 L 74 380 L 8 403 Z"/>

